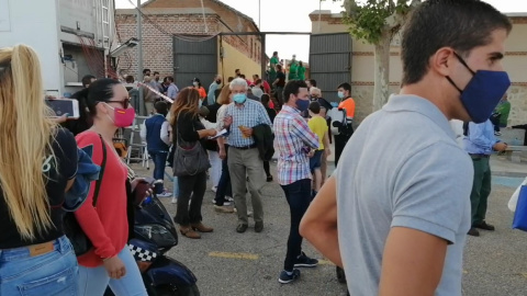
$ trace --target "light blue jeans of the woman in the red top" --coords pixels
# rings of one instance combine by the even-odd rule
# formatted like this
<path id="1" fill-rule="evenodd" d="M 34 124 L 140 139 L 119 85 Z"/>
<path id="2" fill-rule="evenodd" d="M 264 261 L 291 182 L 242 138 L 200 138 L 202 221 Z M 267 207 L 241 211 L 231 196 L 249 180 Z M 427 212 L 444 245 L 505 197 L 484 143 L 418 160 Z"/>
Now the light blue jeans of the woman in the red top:
<path id="1" fill-rule="evenodd" d="M 103 265 L 98 267 L 79 266 L 79 296 L 102 296 L 108 285 L 115 296 L 147 296 L 139 267 L 130 252 L 128 246 L 117 254 L 126 267 L 126 275 L 120 280 L 110 278 Z"/>

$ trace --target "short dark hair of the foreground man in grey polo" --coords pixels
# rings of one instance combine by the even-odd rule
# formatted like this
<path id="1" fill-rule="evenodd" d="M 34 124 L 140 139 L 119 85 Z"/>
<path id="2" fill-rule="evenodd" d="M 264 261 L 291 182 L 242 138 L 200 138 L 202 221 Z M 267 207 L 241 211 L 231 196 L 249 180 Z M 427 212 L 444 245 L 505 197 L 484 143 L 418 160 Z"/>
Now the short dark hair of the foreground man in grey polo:
<path id="1" fill-rule="evenodd" d="M 403 86 L 421 81 L 429 58 L 441 47 L 468 56 L 492 42 L 495 30 L 512 30 L 508 18 L 480 0 L 428 0 L 411 14 L 401 43 Z"/>

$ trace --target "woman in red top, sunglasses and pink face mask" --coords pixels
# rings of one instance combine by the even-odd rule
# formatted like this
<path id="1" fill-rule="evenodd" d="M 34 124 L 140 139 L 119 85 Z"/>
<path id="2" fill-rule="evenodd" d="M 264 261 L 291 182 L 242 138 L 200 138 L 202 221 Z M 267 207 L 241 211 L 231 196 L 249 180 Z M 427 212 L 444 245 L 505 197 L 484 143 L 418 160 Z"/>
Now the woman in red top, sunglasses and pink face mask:
<path id="1" fill-rule="evenodd" d="M 75 213 L 93 243 L 92 250 L 77 258 L 80 265 L 78 293 L 103 295 L 110 286 L 115 295 L 147 295 L 135 259 L 126 246 L 127 169 L 112 141 L 117 128 L 132 125 L 135 111 L 124 86 L 113 79 L 100 79 L 90 84 L 87 103 L 93 126 L 77 135 L 77 144 L 81 148 L 92 147 L 96 164 L 102 164 L 103 145 L 106 153 L 97 206 L 93 206 L 96 186 L 92 184 L 86 203 Z M 141 181 L 132 181 L 132 191 Z"/>

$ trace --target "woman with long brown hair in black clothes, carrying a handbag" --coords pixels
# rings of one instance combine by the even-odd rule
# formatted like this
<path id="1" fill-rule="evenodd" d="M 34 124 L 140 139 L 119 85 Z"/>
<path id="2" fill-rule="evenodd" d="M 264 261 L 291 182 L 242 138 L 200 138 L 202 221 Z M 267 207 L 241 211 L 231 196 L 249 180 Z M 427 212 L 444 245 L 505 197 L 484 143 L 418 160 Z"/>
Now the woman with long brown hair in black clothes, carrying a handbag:
<path id="1" fill-rule="evenodd" d="M 170 125 L 172 126 L 173 145 L 178 145 L 178 138 L 183 141 L 195 143 L 202 141 L 206 137 L 216 135 L 216 129 L 205 129 L 200 122 L 199 113 L 201 106 L 200 94 L 197 89 L 186 88 L 178 94 L 178 99 L 170 110 Z M 203 148 L 204 149 L 204 148 Z M 203 195 L 206 189 L 206 171 L 199 172 L 193 175 L 179 175 L 179 196 L 178 209 L 173 220 L 179 224 L 181 235 L 199 239 L 199 232 L 212 232 L 211 227 L 204 226 L 201 220 L 201 205 L 203 204 Z M 189 201 L 190 207 L 189 207 Z"/>

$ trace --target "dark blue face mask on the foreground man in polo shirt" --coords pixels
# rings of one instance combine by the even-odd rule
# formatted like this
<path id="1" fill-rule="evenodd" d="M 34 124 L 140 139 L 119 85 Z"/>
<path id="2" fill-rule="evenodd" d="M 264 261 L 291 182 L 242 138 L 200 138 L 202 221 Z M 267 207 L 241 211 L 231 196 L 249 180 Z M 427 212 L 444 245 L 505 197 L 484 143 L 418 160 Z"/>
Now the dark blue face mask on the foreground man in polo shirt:
<path id="1" fill-rule="evenodd" d="M 508 75 L 505 71 L 478 70 L 474 72 L 458 54 L 453 54 L 472 73 L 472 79 L 464 90 L 458 88 L 450 77 L 447 76 L 447 79 L 461 93 L 461 102 L 472 122 L 484 123 L 491 117 L 497 103 L 511 87 Z"/>

